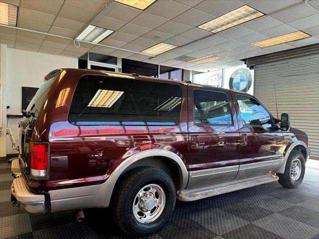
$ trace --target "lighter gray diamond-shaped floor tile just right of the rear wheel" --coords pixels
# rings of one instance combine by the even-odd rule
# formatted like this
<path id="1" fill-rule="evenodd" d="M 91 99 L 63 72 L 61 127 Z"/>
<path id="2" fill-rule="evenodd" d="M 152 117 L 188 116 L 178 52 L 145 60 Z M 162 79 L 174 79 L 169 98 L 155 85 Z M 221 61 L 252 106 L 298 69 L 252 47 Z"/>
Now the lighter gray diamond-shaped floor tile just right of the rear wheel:
<path id="1" fill-rule="evenodd" d="M 221 209 L 208 209 L 206 211 L 194 212 L 187 217 L 217 235 L 228 233 L 249 224 L 249 222 Z"/>

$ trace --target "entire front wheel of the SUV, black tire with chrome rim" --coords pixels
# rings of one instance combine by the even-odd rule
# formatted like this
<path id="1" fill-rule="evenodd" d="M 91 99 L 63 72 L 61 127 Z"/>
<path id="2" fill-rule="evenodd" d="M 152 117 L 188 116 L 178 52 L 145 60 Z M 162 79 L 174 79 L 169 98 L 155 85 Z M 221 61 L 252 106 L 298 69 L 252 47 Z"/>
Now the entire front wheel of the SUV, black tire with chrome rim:
<path id="1" fill-rule="evenodd" d="M 284 173 L 277 174 L 278 182 L 285 188 L 297 188 L 303 181 L 305 176 L 305 157 L 299 151 L 290 153 Z"/>

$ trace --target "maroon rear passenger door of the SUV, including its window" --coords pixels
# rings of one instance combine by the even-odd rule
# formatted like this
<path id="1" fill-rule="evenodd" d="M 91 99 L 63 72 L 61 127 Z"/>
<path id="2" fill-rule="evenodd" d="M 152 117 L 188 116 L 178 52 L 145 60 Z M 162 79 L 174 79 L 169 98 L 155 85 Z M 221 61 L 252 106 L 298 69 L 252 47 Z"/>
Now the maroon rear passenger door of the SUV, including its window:
<path id="1" fill-rule="evenodd" d="M 188 86 L 188 188 L 233 180 L 240 135 L 234 102 L 225 89 Z"/>

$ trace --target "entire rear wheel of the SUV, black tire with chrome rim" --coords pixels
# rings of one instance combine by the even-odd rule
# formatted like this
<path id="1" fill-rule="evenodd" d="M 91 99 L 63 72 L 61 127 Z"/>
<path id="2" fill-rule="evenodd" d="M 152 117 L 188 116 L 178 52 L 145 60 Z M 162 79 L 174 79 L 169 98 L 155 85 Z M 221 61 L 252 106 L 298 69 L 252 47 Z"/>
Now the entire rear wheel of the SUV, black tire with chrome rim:
<path id="1" fill-rule="evenodd" d="M 130 236 L 146 236 L 159 231 L 175 206 L 171 178 L 153 167 L 129 172 L 117 185 L 112 199 L 116 224 Z"/>

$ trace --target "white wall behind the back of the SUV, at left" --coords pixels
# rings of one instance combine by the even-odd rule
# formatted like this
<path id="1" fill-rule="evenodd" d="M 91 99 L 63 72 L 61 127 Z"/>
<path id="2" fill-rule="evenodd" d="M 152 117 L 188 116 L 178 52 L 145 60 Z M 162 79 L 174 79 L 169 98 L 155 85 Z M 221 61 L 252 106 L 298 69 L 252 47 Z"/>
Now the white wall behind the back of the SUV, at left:
<path id="1" fill-rule="evenodd" d="M 14 48 L 7 48 L 6 58 L 6 105 L 10 106 L 9 114 L 21 114 L 22 86 L 40 87 L 44 76 L 50 71 L 58 68 L 78 68 L 77 58 Z M 19 136 L 19 120 L 20 118 L 8 119 L 8 126 L 11 127 L 15 139 L 18 139 Z M 8 137 L 6 141 L 6 153 L 14 153 Z"/>

